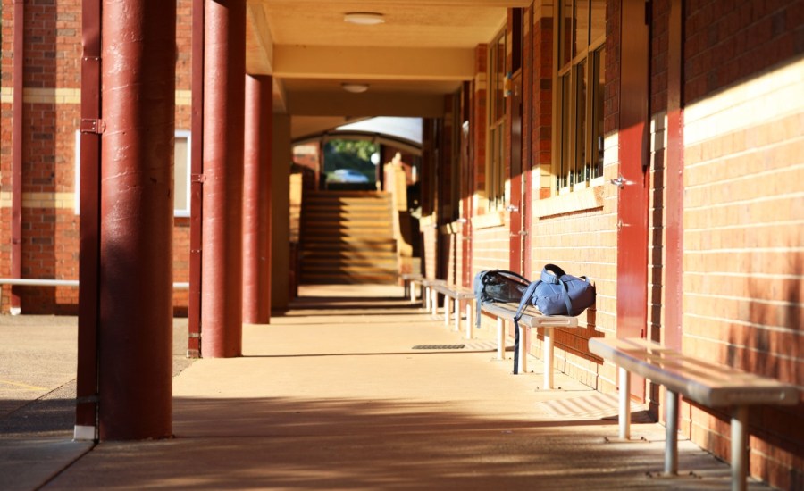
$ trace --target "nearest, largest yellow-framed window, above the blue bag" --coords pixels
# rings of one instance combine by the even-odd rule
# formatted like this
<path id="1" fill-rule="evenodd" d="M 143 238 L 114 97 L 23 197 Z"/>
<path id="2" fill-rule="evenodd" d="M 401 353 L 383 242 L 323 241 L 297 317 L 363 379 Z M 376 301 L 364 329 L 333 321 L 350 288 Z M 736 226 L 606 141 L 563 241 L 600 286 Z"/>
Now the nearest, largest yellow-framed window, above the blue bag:
<path id="1" fill-rule="evenodd" d="M 605 0 L 558 2 L 557 26 L 553 173 L 562 194 L 603 177 Z"/>

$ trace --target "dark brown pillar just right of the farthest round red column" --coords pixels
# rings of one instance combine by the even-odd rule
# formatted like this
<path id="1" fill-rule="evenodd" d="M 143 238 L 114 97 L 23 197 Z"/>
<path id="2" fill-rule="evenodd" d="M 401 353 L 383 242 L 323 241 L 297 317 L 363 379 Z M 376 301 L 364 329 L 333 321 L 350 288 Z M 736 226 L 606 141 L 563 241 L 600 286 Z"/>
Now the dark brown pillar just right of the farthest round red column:
<path id="1" fill-rule="evenodd" d="M 271 166 L 271 304 L 285 309 L 289 303 L 290 263 L 290 117 L 274 114 L 272 127 Z"/>

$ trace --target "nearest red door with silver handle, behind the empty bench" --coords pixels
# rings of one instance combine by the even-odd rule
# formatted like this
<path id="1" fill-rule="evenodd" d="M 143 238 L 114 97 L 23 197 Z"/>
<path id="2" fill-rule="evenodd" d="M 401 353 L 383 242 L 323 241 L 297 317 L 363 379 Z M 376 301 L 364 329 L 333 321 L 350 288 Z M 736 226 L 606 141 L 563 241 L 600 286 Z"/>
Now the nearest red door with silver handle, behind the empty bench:
<path id="1" fill-rule="evenodd" d="M 649 29 L 644 4 L 623 3 L 620 53 L 620 176 L 617 217 L 617 337 L 645 337 L 648 320 Z M 632 395 L 645 398 L 644 380 Z"/>

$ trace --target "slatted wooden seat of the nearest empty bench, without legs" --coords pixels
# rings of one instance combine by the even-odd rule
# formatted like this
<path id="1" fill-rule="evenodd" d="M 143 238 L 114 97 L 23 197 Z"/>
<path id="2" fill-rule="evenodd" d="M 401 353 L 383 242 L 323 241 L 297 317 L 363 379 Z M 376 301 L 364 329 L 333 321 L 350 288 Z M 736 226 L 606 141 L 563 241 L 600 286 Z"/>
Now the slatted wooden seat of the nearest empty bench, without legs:
<path id="1" fill-rule="evenodd" d="M 747 371 L 685 356 L 641 338 L 590 339 L 593 354 L 709 407 L 799 403 L 798 388 Z"/>

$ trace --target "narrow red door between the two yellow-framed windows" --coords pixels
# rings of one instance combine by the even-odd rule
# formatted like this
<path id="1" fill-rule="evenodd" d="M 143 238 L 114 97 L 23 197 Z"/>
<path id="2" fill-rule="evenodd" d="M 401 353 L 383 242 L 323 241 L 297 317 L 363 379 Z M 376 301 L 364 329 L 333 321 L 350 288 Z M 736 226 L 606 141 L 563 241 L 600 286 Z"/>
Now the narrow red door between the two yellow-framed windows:
<path id="1" fill-rule="evenodd" d="M 523 273 L 524 237 L 527 231 L 524 227 L 523 200 L 524 187 L 522 175 L 522 72 L 517 72 L 515 79 L 511 80 L 511 203 L 507 206 L 510 213 L 510 245 L 508 269 Z"/>

